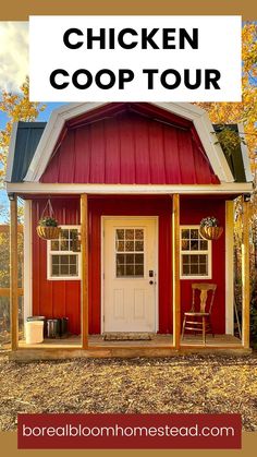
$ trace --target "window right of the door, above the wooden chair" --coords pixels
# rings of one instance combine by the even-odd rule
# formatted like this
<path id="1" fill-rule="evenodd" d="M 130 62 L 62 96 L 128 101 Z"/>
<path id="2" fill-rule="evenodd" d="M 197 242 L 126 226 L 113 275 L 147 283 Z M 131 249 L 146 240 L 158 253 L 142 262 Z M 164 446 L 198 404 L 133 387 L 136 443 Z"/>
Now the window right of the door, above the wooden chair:
<path id="1" fill-rule="evenodd" d="M 211 278 L 211 241 L 200 237 L 198 226 L 181 227 L 181 278 Z"/>

